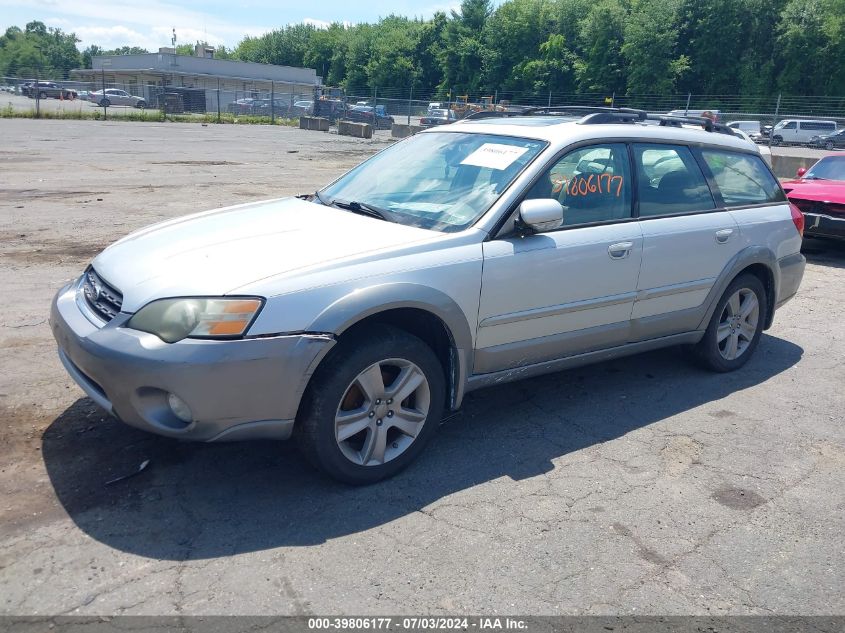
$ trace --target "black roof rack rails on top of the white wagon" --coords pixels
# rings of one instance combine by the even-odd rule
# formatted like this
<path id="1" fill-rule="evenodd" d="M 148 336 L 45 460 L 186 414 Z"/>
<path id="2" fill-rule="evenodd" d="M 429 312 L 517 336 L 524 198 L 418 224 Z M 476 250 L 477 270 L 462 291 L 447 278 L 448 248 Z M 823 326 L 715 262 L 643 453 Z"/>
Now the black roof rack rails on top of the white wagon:
<path id="1" fill-rule="evenodd" d="M 696 125 L 707 132 L 718 132 L 736 136 L 733 129 L 721 123 L 716 123 L 707 117 L 698 116 L 670 116 L 668 114 L 651 114 L 636 108 L 609 108 L 600 106 L 553 105 L 553 106 L 510 106 L 507 110 L 481 110 L 472 112 L 464 120 L 479 120 L 493 118 L 510 118 L 521 116 L 570 116 L 581 118 L 580 125 L 599 125 L 607 123 L 644 123 L 658 121 L 661 127 L 682 127 Z"/>

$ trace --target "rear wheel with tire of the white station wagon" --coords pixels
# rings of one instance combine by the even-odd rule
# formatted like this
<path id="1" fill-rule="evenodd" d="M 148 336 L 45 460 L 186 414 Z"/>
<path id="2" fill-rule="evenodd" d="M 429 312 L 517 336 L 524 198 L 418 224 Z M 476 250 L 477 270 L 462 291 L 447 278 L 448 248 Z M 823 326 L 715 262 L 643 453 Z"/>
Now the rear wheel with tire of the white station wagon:
<path id="1" fill-rule="evenodd" d="M 704 337 L 693 348 L 707 369 L 739 369 L 757 348 L 766 322 L 766 290 L 754 275 L 734 279 L 716 304 Z"/>

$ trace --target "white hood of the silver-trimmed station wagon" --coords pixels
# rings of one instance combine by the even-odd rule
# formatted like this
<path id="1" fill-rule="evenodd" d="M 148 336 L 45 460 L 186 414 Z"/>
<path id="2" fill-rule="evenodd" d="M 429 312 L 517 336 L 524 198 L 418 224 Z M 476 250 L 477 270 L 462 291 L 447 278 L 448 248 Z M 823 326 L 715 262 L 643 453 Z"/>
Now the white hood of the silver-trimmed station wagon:
<path id="1" fill-rule="evenodd" d="M 163 297 L 220 296 L 443 234 L 297 198 L 227 207 L 155 224 L 98 255 L 97 273 L 135 312 Z"/>

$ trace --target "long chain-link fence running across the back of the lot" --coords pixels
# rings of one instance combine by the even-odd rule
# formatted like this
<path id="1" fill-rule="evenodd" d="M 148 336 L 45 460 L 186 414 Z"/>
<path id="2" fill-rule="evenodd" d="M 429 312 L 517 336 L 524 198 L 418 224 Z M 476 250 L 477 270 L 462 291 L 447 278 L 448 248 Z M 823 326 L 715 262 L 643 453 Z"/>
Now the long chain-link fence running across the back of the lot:
<path id="1" fill-rule="evenodd" d="M 354 108 L 373 108 L 396 123 L 418 123 L 434 105 L 455 111 L 461 117 L 478 110 L 505 110 L 511 106 L 548 107 L 555 105 L 614 106 L 646 110 L 650 113 L 698 115 L 713 112 L 723 123 L 747 122 L 766 136 L 775 128 L 775 144 L 805 144 L 808 139 L 794 134 L 802 127 L 795 121 L 824 120 L 819 134 L 845 127 L 845 96 L 791 95 L 616 95 L 603 93 L 558 93 L 549 91 L 513 92 L 493 90 L 486 93 L 459 94 L 460 91 L 419 93 L 412 88 L 350 87 L 345 91 L 322 87 L 303 87 L 270 82 L 269 89 L 231 90 L 190 88 L 136 81 L 106 82 L 50 80 L 40 77 L 0 77 L 0 112 L 36 116 L 79 118 L 194 115 L 204 121 L 275 123 L 313 113 L 315 99 L 335 102 L 330 108 L 332 120 L 343 118 Z M 206 83 L 206 85 L 208 85 Z M 219 85 L 219 84 L 218 84 Z M 5 103 L 4 103 L 5 101 Z M 326 105 L 321 103 L 319 105 Z M 324 111 L 323 108 L 318 108 Z M 95 112 L 97 114 L 95 114 Z M 318 112 L 318 114 L 321 114 Z M 828 130 L 831 123 L 834 126 Z M 780 124 L 783 133 L 779 134 Z M 789 127 L 792 125 L 793 127 Z M 812 124 L 809 124 L 812 127 Z M 745 129 L 745 128 L 743 128 Z M 812 132 L 812 130 L 808 131 Z M 792 137 L 790 137 L 792 134 Z M 805 135 L 806 136 L 806 135 Z"/>

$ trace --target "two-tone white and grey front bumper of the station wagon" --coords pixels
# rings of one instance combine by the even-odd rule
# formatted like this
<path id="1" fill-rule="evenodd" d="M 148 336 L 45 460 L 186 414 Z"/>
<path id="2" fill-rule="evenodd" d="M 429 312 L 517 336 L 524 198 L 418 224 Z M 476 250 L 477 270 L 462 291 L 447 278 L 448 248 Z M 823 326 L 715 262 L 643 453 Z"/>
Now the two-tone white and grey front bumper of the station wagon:
<path id="1" fill-rule="evenodd" d="M 302 393 L 334 345 L 330 335 L 165 343 L 123 325 L 100 326 L 84 312 L 74 282 L 53 299 L 50 327 L 59 357 L 94 402 L 132 426 L 200 441 L 287 439 Z M 188 404 L 193 421 L 170 410 L 168 394 Z"/>

